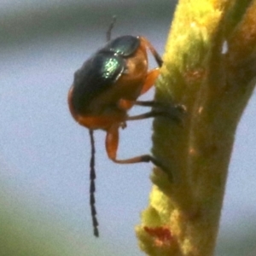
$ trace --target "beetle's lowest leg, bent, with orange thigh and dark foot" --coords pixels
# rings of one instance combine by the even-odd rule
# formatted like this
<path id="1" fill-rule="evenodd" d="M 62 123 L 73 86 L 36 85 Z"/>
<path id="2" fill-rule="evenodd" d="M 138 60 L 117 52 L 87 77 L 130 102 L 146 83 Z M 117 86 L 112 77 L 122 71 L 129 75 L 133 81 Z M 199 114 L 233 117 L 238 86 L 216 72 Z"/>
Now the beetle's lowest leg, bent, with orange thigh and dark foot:
<path id="1" fill-rule="evenodd" d="M 108 153 L 109 159 L 118 164 L 136 164 L 141 162 L 152 162 L 155 166 L 161 166 L 160 162 L 154 159 L 153 156 L 149 154 L 139 155 L 126 160 L 117 160 L 116 154 L 119 146 L 119 125 L 113 125 L 107 131 L 106 137 L 106 150 Z"/>

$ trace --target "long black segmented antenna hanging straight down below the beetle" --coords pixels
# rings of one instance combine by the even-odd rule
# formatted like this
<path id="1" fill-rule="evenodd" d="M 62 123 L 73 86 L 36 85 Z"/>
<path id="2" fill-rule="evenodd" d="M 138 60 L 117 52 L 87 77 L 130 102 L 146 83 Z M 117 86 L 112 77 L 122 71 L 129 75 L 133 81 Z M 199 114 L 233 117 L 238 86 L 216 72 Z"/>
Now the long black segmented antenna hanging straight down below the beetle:
<path id="1" fill-rule="evenodd" d="M 89 130 L 90 134 L 90 214 L 92 219 L 92 226 L 93 226 L 93 234 L 94 236 L 99 236 L 98 230 L 98 220 L 96 218 L 96 207 L 95 207 L 95 179 L 96 179 L 96 172 L 95 172 L 95 142 L 93 137 L 93 131 Z"/>

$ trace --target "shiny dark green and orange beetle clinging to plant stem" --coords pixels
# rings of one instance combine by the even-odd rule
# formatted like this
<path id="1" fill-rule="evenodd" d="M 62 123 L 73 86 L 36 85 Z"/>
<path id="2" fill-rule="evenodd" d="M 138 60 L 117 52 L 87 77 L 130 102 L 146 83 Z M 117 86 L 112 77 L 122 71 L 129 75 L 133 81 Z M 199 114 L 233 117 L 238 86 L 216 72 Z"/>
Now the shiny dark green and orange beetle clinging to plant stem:
<path id="1" fill-rule="evenodd" d="M 154 85 L 159 76 L 159 67 L 163 63 L 160 55 L 144 37 L 126 35 L 110 40 L 112 27 L 113 24 L 108 30 L 108 43 L 91 55 L 74 74 L 73 85 L 68 92 L 68 106 L 73 119 L 90 131 L 90 210 L 95 236 L 99 236 L 99 231 L 94 197 L 96 173 L 93 131 L 100 129 L 107 132 L 106 151 L 113 162 L 133 164 L 151 161 L 155 166 L 162 167 L 160 161 L 150 154 L 117 159 L 119 128 L 125 128 L 126 122 L 130 120 L 165 116 L 166 113 L 154 109 L 159 105 L 157 102 L 137 101 L 139 96 Z M 159 66 L 149 71 L 148 49 Z M 153 109 L 148 113 L 129 116 L 129 109 L 135 105 Z"/>

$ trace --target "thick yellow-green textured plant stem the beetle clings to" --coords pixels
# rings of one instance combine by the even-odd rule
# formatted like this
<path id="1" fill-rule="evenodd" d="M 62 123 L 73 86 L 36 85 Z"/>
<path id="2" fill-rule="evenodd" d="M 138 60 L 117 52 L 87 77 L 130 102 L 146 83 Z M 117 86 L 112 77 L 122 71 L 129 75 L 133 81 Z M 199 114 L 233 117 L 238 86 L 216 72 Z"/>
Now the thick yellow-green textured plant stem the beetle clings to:
<path id="1" fill-rule="evenodd" d="M 181 122 L 154 120 L 148 208 L 137 226 L 149 255 L 213 255 L 241 113 L 256 76 L 256 1 L 181 0 L 155 99 L 186 108 Z"/>

